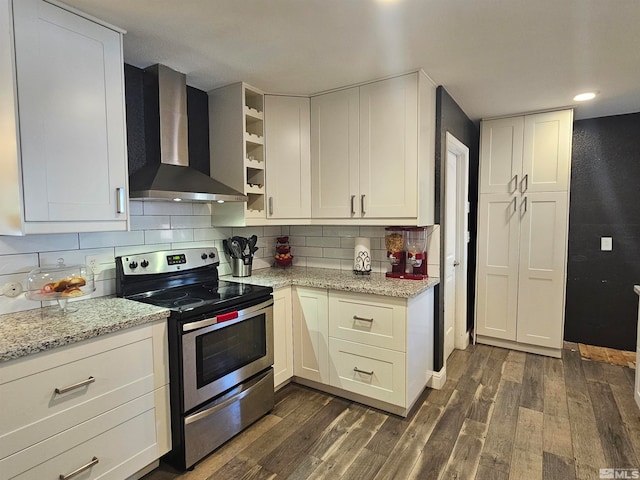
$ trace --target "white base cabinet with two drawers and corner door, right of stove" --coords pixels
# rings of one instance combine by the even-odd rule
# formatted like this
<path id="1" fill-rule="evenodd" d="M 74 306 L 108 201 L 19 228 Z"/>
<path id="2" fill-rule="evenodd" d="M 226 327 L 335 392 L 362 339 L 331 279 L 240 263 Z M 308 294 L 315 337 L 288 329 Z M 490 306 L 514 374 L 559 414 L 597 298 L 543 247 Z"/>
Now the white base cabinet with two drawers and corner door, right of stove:
<path id="1" fill-rule="evenodd" d="M 295 287 L 297 381 L 407 415 L 433 373 L 433 289 L 406 299 Z"/>

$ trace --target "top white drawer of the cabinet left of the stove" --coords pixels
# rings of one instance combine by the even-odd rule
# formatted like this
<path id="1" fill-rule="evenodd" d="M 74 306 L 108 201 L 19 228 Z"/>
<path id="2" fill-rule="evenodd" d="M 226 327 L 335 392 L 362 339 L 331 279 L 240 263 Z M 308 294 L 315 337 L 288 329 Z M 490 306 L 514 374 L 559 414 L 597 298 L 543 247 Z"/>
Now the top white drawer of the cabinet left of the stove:
<path id="1" fill-rule="evenodd" d="M 97 340 L 45 356 L 50 365 L 39 371 L 33 371 L 31 363 L 40 362 L 40 355 L 21 364 L 27 372 L 24 376 L 0 384 L 0 458 L 153 391 L 152 339 L 137 338 L 126 345 L 113 345 L 130 338 L 114 336 L 105 340 L 111 347 L 106 351 L 100 351 L 104 344 Z M 78 358 L 76 348 L 86 356 Z M 66 387 L 90 379 L 91 383 L 64 392 Z M 63 393 L 56 393 L 56 389 Z"/>

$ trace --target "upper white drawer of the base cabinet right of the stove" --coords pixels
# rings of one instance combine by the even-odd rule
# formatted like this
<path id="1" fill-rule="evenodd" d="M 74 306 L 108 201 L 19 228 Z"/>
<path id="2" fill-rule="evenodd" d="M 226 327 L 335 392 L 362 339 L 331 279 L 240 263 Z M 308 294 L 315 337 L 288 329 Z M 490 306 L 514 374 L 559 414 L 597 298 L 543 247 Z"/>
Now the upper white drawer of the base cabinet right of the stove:
<path id="1" fill-rule="evenodd" d="M 353 293 L 329 293 L 329 336 L 406 351 L 406 301 Z"/>

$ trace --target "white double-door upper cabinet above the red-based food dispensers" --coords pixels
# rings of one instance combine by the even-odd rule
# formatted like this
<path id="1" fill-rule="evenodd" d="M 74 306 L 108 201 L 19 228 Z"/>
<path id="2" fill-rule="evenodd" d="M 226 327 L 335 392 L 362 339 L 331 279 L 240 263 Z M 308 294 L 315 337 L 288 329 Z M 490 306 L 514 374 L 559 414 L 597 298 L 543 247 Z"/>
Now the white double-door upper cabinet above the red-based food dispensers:
<path id="1" fill-rule="evenodd" d="M 312 97 L 312 218 L 432 224 L 434 144 L 422 72 Z"/>

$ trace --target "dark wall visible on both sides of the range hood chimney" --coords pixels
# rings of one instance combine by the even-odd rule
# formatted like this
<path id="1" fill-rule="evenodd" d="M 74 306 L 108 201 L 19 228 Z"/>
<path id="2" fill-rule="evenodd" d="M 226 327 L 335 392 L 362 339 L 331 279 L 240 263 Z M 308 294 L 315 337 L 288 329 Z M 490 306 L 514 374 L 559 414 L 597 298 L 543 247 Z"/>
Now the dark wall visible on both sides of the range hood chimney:
<path id="1" fill-rule="evenodd" d="M 155 102 L 155 108 L 152 106 L 148 111 L 157 112 L 158 86 L 144 70 L 126 63 L 124 83 L 129 175 L 133 175 L 148 163 L 160 161 L 159 118 L 157 114 L 154 118 L 149 115 L 145 118 L 145 106 L 149 107 L 149 102 Z M 189 165 L 209 175 L 209 97 L 207 92 L 188 85 L 187 118 Z M 150 135 L 154 138 L 150 139 Z"/>

